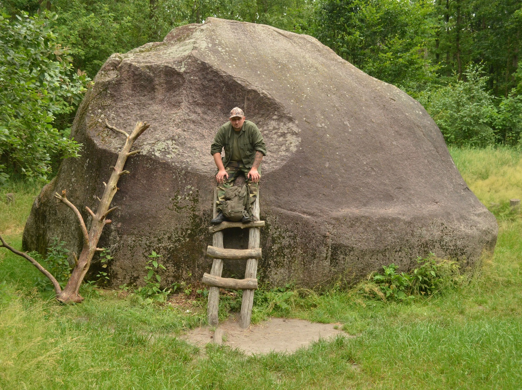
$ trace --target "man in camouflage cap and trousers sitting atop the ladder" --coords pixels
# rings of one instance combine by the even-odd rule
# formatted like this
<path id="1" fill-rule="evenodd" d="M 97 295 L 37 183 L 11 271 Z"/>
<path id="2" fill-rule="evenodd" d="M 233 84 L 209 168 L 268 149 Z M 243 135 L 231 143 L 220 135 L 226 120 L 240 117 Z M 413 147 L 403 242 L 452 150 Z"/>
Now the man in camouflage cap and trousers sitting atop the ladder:
<path id="1" fill-rule="evenodd" d="M 243 110 L 234 107 L 230 111 L 230 121 L 222 125 L 216 136 L 210 153 L 218 167 L 216 181 L 218 182 L 218 199 L 216 209 L 218 216 L 210 221 L 211 224 L 223 222 L 226 218 L 221 211 L 224 193 L 233 185 L 235 178 L 242 172 L 245 175 L 249 199 L 246 206 L 248 217 L 241 222 L 252 222 L 252 206 L 257 197 L 259 183 L 259 166 L 266 156 L 266 146 L 263 136 L 255 123 L 245 121 Z M 225 156 L 221 158 L 221 150 L 225 148 Z"/>

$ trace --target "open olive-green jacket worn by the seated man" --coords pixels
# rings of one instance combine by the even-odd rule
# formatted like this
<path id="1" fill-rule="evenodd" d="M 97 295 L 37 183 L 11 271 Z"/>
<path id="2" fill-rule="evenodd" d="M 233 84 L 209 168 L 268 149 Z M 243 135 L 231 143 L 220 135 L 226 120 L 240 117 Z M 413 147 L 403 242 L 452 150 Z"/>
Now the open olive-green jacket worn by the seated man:
<path id="1" fill-rule="evenodd" d="M 219 128 L 212 146 L 210 146 L 211 155 L 221 153 L 221 149 L 223 149 L 223 147 L 225 148 L 225 157 L 221 159 L 225 167 L 230 161 L 230 156 L 232 156 L 232 147 L 234 145 L 234 138 L 232 137 L 234 137 L 234 131 L 230 122 L 225 123 Z M 265 141 L 263 141 L 263 136 L 254 122 L 245 121 L 245 123 L 243 123 L 238 143 L 241 158 L 247 168 L 252 168 L 256 150 L 259 150 L 263 153 L 263 156 L 266 156 Z"/>

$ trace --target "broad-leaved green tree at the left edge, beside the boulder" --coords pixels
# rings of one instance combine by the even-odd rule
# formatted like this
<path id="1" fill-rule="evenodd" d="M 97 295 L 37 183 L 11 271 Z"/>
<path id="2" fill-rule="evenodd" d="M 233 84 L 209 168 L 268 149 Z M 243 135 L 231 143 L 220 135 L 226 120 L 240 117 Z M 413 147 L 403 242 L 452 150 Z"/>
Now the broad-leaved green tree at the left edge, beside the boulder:
<path id="1" fill-rule="evenodd" d="M 55 14 L 0 17 L 0 181 L 45 180 L 51 158 L 78 156 L 80 145 L 58 131 L 55 115 L 72 110 L 89 79 L 75 72 L 50 27 Z"/>

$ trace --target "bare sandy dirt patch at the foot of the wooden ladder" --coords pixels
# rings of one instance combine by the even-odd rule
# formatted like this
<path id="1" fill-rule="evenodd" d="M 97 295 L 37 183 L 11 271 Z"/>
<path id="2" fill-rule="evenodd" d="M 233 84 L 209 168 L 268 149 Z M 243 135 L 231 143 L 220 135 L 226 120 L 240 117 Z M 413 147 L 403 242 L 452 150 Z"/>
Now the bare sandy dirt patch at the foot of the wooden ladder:
<path id="1" fill-rule="evenodd" d="M 220 324 L 216 332 L 208 326 L 193 329 L 185 335 L 185 339 L 199 347 L 204 347 L 208 342 L 217 342 L 238 348 L 246 354 L 270 351 L 292 353 L 319 338 L 333 339 L 339 334 L 355 337 L 336 329 L 337 326 L 339 324 L 317 324 L 295 318 L 271 318 L 241 329 L 237 321 L 229 320 Z M 221 340 L 215 340 L 215 335 Z"/>

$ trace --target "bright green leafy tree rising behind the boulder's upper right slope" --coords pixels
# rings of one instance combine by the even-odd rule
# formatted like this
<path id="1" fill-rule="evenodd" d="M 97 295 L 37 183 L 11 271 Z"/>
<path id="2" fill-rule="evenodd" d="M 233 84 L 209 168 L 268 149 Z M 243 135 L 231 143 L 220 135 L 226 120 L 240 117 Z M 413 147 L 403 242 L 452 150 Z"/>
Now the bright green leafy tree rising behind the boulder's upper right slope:
<path id="1" fill-rule="evenodd" d="M 434 77 L 432 12 L 429 2 L 322 0 L 311 32 L 364 72 L 414 92 Z"/>

